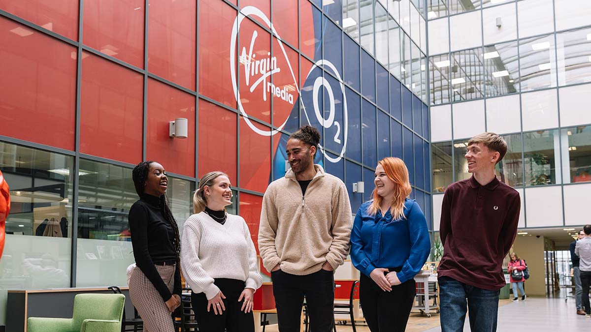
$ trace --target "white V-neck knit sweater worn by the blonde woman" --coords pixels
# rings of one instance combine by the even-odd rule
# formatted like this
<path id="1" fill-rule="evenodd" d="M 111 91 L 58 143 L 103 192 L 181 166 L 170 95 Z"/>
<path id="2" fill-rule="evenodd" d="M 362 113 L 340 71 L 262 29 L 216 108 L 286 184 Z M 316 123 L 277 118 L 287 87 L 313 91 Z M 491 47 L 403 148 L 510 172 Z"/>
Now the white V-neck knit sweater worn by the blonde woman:
<path id="1" fill-rule="evenodd" d="M 207 300 L 220 291 L 214 278 L 238 279 L 246 288 L 261 287 L 255 245 L 241 216 L 228 214 L 225 224 L 205 212 L 190 216 L 183 226 L 180 258 L 187 284 L 193 292 L 204 292 Z"/>

